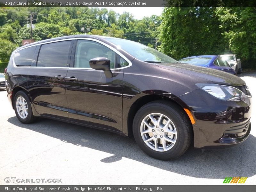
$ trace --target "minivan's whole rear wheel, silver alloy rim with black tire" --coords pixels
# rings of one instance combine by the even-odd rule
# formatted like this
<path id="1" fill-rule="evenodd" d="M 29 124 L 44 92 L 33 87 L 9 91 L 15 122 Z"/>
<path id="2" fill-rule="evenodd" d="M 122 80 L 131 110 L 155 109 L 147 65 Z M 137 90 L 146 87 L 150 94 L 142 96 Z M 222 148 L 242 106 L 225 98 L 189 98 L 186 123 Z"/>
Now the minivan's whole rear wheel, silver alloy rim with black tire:
<path id="1" fill-rule="evenodd" d="M 24 91 L 18 91 L 15 94 L 13 105 L 15 114 L 21 123 L 29 124 L 37 119 L 33 116 L 30 100 Z"/>

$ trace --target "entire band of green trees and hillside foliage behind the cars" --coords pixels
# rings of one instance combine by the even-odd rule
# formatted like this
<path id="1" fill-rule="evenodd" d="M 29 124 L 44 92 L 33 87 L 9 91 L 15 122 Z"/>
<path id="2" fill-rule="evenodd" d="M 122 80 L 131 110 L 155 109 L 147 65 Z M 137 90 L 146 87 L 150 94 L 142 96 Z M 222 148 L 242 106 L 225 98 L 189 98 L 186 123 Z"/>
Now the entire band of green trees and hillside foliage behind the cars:
<path id="1" fill-rule="evenodd" d="M 246 63 L 243 67 L 256 68 L 255 7 L 165 7 L 162 16 L 142 20 L 106 8 L 2 7 L 0 41 L 20 46 L 22 39 L 30 39 L 27 24 L 31 13 L 36 41 L 86 32 L 126 38 L 154 48 L 157 41 L 158 50 L 175 59 L 235 53 Z"/>

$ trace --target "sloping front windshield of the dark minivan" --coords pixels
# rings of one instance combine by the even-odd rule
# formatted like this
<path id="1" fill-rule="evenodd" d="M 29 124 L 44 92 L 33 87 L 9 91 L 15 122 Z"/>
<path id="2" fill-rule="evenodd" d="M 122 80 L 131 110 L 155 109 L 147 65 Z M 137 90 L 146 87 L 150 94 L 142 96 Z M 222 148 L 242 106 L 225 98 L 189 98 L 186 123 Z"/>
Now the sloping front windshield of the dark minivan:
<path id="1" fill-rule="evenodd" d="M 148 63 L 178 63 L 177 60 L 156 51 L 146 45 L 125 39 L 106 38 L 109 42 L 119 46 L 138 60 Z"/>

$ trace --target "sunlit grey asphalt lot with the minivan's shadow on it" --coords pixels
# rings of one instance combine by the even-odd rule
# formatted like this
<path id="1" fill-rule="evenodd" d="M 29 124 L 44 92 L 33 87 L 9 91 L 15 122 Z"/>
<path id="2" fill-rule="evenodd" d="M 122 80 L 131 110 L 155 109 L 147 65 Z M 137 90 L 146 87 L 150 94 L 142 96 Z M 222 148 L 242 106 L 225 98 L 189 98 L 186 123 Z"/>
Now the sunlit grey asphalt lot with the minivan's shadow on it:
<path id="1" fill-rule="evenodd" d="M 256 72 L 241 78 L 255 104 Z M 256 184 L 256 104 L 251 135 L 241 145 L 205 151 L 190 147 L 177 160 L 160 161 L 144 154 L 133 138 L 43 118 L 21 124 L 5 91 L 0 91 L 0 103 L 0 185 L 35 184 L 32 179 L 62 179 L 38 183 L 47 185 L 223 185 L 225 177 L 235 176 L 248 177 L 244 185 Z M 6 183 L 8 177 L 30 183 Z"/>

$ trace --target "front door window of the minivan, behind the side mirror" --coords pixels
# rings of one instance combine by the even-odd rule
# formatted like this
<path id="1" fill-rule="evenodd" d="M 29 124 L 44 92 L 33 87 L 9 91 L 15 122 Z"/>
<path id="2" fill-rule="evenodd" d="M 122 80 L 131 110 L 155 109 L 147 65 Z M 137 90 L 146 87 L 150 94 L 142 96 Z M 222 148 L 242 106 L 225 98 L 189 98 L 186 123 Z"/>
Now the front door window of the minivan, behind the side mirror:
<path id="1" fill-rule="evenodd" d="M 75 53 L 75 68 L 90 68 L 89 60 L 106 57 L 110 60 L 110 68 L 115 68 L 116 53 L 108 47 L 89 40 L 78 40 Z"/>

